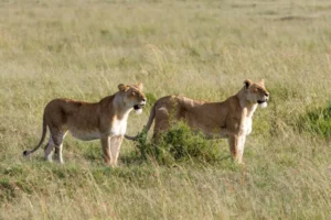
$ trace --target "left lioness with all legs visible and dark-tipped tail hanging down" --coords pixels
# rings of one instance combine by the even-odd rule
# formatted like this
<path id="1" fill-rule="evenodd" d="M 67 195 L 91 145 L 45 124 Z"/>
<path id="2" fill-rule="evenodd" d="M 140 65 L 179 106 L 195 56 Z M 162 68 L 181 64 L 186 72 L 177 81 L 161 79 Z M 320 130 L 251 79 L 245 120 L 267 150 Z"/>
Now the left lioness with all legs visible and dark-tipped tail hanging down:
<path id="1" fill-rule="evenodd" d="M 49 128 L 51 135 L 45 146 L 46 161 L 52 161 L 52 150 L 55 146 L 55 156 L 63 163 L 62 142 L 70 131 L 74 138 L 83 141 L 100 139 L 105 163 L 116 166 L 129 113 L 132 109 L 141 113 L 141 108 L 146 105 L 142 84 L 120 84 L 118 90 L 95 103 L 70 99 L 54 99 L 49 102 L 44 109 L 41 141 L 34 150 L 24 151 L 23 155 L 28 156 L 42 145 Z"/>

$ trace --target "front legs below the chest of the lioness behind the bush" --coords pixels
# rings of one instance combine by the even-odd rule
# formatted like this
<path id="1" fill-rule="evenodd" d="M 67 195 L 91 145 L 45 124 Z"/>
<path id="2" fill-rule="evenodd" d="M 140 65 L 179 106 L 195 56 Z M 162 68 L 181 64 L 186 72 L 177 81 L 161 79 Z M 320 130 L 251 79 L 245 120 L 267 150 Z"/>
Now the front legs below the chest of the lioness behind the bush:
<path id="1" fill-rule="evenodd" d="M 243 163 L 246 135 L 231 135 L 227 139 L 232 158 L 238 164 Z"/>

